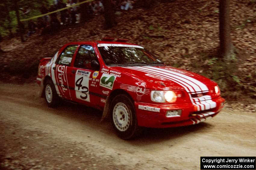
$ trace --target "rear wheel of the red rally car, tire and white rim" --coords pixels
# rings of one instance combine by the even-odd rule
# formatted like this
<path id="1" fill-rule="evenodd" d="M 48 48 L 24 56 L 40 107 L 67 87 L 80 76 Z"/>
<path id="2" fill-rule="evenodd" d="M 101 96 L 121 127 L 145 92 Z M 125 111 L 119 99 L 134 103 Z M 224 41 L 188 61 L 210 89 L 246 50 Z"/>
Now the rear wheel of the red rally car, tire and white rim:
<path id="1" fill-rule="evenodd" d="M 45 101 L 49 107 L 56 107 L 60 102 L 60 98 L 56 92 L 55 86 L 51 79 L 45 82 Z"/>

